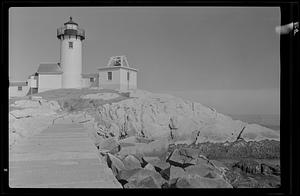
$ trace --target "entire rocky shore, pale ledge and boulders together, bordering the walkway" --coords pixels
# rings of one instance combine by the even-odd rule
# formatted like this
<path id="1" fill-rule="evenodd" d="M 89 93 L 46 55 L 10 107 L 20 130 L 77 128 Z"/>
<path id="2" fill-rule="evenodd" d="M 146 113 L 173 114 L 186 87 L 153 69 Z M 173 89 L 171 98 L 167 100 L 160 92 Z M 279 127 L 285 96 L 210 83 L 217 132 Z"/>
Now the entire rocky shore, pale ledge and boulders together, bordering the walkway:
<path id="1" fill-rule="evenodd" d="M 54 123 L 80 123 L 124 188 L 239 187 L 231 172 L 239 167 L 213 159 L 279 158 L 278 132 L 200 103 L 143 91 L 111 102 L 99 96 L 15 102 L 22 110 L 9 114 L 10 145 Z"/>

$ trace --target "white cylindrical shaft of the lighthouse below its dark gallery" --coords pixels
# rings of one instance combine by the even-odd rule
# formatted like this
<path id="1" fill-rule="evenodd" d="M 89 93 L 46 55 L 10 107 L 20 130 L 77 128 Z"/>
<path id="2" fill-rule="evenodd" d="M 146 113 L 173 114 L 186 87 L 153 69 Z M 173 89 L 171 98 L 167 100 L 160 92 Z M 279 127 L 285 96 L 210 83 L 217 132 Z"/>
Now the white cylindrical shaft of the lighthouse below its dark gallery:
<path id="1" fill-rule="evenodd" d="M 82 72 L 82 42 L 80 38 L 64 36 L 61 39 L 61 67 L 62 87 L 80 88 Z M 69 48 L 69 42 L 73 42 L 73 48 Z"/>

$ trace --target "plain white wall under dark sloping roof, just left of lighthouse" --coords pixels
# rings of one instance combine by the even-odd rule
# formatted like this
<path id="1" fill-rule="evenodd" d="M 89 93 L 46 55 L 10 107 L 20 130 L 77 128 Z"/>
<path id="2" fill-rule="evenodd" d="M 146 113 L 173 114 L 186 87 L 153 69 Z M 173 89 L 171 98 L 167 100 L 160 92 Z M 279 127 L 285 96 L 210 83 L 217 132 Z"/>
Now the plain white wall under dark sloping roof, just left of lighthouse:
<path id="1" fill-rule="evenodd" d="M 62 75 L 61 74 L 56 74 L 56 75 L 39 74 L 38 86 L 39 86 L 38 92 L 62 88 Z"/>

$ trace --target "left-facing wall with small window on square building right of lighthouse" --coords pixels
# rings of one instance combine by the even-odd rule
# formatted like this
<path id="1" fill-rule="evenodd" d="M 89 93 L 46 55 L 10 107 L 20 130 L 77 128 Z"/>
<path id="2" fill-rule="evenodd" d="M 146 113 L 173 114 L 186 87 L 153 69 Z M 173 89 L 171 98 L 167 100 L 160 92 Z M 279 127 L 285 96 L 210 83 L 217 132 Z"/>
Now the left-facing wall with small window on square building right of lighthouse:
<path id="1" fill-rule="evenodd" d="M 112 72 L 112 80 L 108 80 L 107 72 Z M 99 71 L 99 87 L 107 89 L 120 89 L 120 69 Z"/>

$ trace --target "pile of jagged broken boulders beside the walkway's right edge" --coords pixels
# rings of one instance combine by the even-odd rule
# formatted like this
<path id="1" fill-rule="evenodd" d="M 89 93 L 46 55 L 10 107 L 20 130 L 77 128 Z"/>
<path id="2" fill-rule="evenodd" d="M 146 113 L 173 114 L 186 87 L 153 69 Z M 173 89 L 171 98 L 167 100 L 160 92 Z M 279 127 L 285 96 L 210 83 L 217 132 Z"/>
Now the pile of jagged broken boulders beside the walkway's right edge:
<path id="1" fill-rule="evenodd" d="M 234 143 L 241 144 L 243 141 Z M 222 160 L 223 157 L 208 159 L 202 149 L 192 145 L 168 144 L 167 138 L 145 142 L 134 136 L 119 141 L 111 137 L 105 139 L 98 149 L 124 188 L 280 186 L 280 167 L 256 161 L 255 155 L 227 157 L 233 158 L 228 163 Z M 207 143 L 203 145 L 207 146 Z M 214 151 L 212 146 L 207 147 L 207 151 Z M 231 148 L 241 150 L 243 145 Z M 279 152 L 273 153 L 278 156 Z"/>

